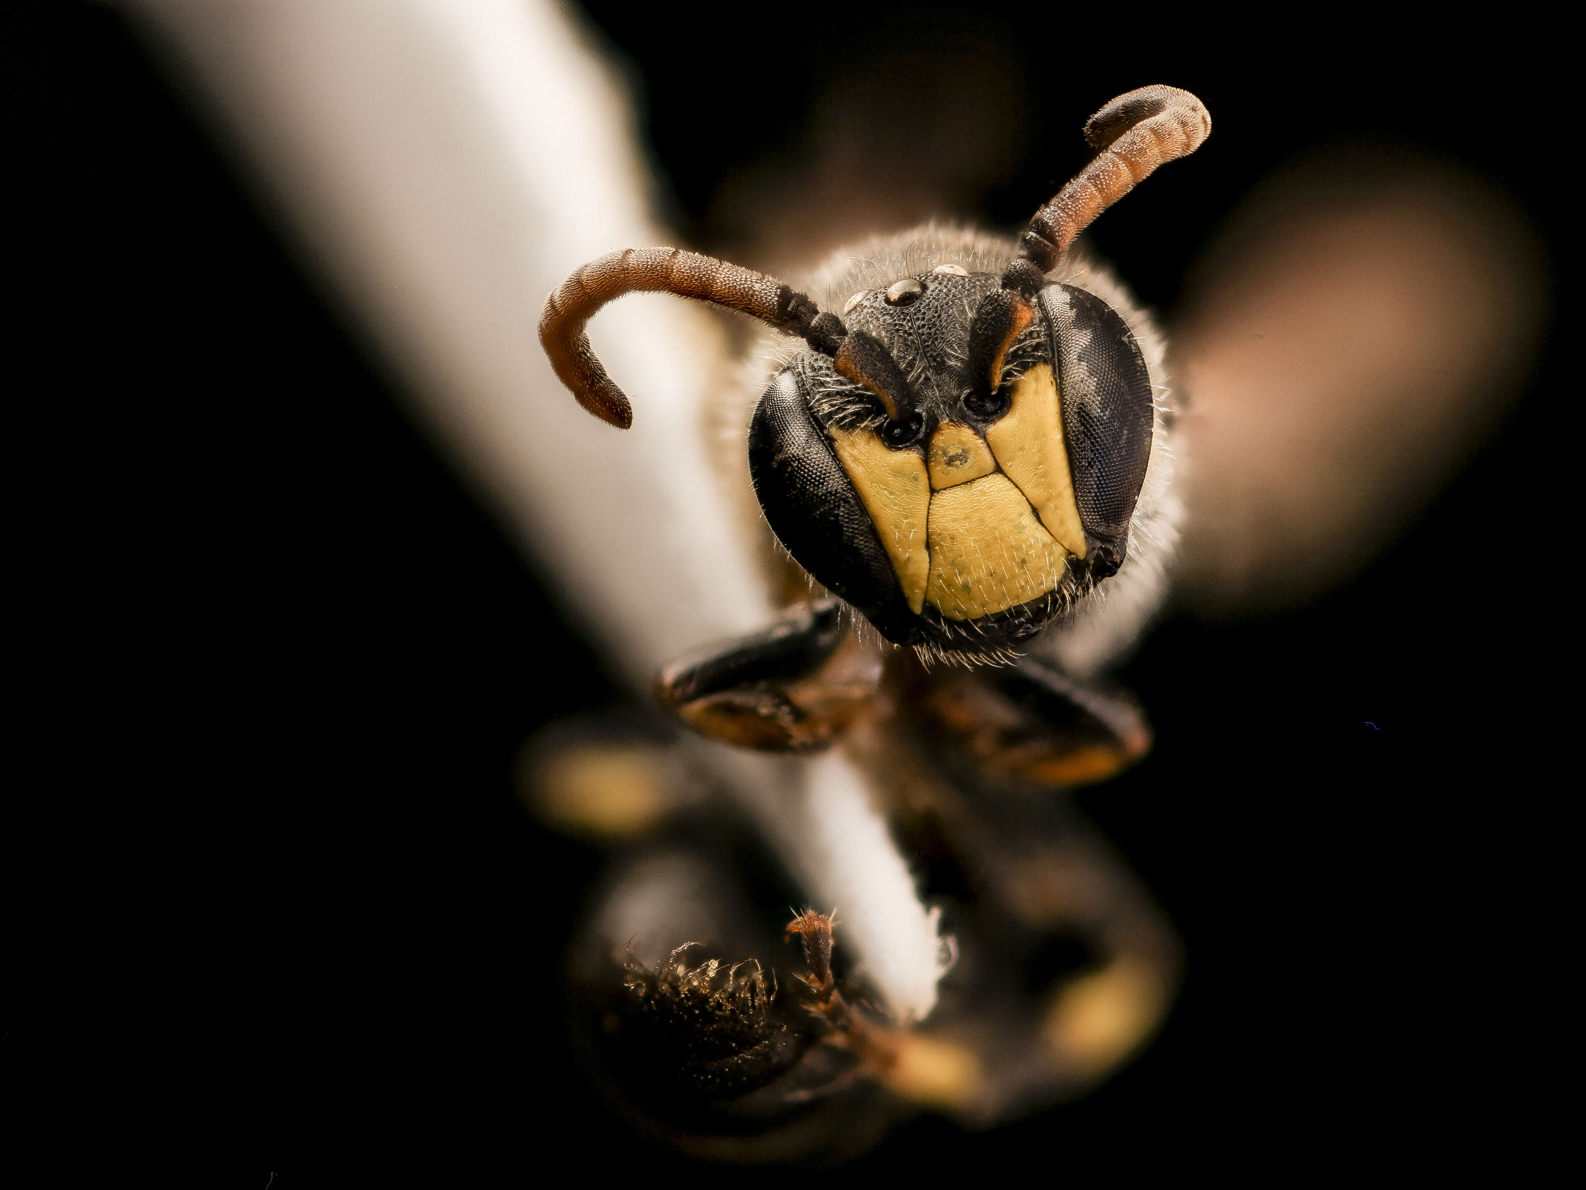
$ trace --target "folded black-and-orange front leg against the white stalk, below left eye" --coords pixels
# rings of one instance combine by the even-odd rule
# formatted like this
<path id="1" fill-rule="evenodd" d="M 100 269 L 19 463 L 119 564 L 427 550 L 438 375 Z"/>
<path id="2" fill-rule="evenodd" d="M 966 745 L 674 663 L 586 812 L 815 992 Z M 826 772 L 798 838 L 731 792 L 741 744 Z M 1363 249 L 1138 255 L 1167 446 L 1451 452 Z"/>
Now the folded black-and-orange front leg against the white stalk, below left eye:
<path id="1" fill-rule="evenodd" d="M 701 735 L 761 752 L 818 752 L 864 711 L 880 654 L 837 600 L 804 605 L 769 628 L 661 671 L 657 692 Z"/>

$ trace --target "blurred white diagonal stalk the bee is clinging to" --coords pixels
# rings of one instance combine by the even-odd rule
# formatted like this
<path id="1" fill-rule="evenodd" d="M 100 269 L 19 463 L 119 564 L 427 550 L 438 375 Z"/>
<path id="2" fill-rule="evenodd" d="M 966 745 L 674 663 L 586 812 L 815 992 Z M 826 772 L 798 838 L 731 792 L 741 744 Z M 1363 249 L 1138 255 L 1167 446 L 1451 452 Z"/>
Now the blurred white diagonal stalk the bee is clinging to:
<path id="1" fill-rule="evenodd" d="M 614 248 L 666 243 L 633 119 L 542 0 L 127 0 L 213 100 L 309 255 L 539 557 L 630 685 L 772 614 L 714 479 L 714 324 L 628 298 L 592 328 L 626 433 L 557 382 L 546 295 Z M 525 681 L 555 682 L 555 666 Z M 899 1017 L 936 1003 L 936 923 L 841 758 L 718 766 Z"/>

